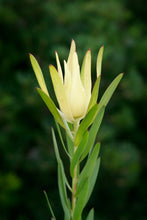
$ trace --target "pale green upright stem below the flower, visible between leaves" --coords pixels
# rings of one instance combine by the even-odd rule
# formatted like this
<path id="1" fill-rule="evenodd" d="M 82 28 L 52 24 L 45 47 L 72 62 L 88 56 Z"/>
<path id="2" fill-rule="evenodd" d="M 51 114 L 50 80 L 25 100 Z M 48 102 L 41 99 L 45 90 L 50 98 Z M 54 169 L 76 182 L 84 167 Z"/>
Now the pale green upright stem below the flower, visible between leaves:
<path id="1" fill-rule="evenodd" d="M 74 123 L 74 138 L 75 138 L 76 132 L 78 130 L 78 127 L 79 127 L 79 121 L 76 121 Z M 78 146 L 74 146 L 74 153 L 76 152 L 77 147 Z M 72 218 L 73 218 L 73 213 L 74 213 L 75 206 L 76 206 L 76 196 L 75 195 L 76 195 L 77 177 L 78 177 L 78 166 L 76 165 L 75 169 L 74 169 L 74 175 L 72 178 L 72 210 L 71 210 L 71 217 Z"/>

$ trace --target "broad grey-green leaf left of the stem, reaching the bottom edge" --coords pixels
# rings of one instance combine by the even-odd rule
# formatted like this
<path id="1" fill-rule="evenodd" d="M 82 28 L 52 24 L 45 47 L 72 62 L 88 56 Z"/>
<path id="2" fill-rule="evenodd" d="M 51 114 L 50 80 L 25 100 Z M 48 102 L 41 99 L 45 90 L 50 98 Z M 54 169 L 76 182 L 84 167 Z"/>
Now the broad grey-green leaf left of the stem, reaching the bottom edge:
<path id="1" fill-rule="evenodd" d="M 67 199 L 67 192 L 66 192 L 66 180 L 65 175 L 63 173 L 63 164 L 62 161 L 58 161 L 58 187 L 59 187 L 59 193 L 60 193 L 60 199 L 61 203 L 64 209 L 64 213 L 67 216 L 68 219 L 70 219 L 70 206 L 69 201 Z"/>

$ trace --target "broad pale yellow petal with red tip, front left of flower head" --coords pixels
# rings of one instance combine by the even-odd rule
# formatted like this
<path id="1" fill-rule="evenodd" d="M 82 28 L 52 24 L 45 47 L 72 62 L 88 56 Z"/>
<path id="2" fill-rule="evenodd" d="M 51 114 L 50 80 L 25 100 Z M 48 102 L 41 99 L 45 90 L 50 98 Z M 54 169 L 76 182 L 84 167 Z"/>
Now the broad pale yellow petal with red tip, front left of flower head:
<path id="1" fill-rule="evenodd" d="M 62 84 L 61 78 L 60 78 L 60 76 L 54 66 L 50 65 L 49 70 L 50 70 L 50 75 L 51 75 L 54 91 L 55 91 L 56 98 L 58 100 L 60 109 L 65 114 L 66 118 L 69 121 L 73 121 L 73 117 L 71 114 L 71 110 L 69 108 L 69 104 L 67 101 L 65 89 Z"/>

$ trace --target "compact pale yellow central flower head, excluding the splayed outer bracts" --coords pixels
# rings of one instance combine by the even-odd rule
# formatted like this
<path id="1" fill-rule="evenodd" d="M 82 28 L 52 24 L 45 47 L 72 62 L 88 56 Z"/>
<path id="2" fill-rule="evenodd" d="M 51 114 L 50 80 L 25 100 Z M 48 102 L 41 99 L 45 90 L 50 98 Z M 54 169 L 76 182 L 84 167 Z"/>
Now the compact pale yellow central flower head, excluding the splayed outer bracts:
<path id="1" fill-rule="evenodd" d="M 50 66 L 55 94 L 65 118 L 73 122 L 85 116 L 91 97 L 91 52 L 85 55 L 83 70 L 80 66 L 74 40 L 72 40 L 67 62 L 64 60 L 64 79 L 56 53 L 57 70 Z M 58 81 L 58 82 L 57 82 Z"/>

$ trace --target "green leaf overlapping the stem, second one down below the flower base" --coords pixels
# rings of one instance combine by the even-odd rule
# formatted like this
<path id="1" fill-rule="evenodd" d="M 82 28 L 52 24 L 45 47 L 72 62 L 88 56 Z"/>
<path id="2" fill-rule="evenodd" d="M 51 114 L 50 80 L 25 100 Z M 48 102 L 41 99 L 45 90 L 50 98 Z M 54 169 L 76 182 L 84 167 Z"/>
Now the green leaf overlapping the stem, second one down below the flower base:
<path id="1" fill-rule="evenodd" d="M 88 131 L 86 131 L 83 138 L 82 138 L 81 143 L 77 147 L 76 152 L 74 153 L 74 155 L 72 157 L 71 164 L 70 164 L 70 174 L 72 177 L 73 177 L 73 173 L 74 173 L 74 168 L 77 165 L 77 163 L 79 162 L 79 159 L 80 159 L 83 151 L 85 150 L 85 146 L 88 141 L 88 136 L 89 136 L 89 133 L 88 133 Z"/>

